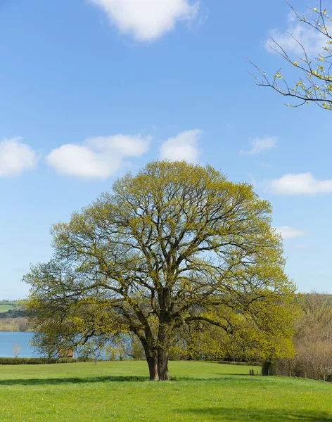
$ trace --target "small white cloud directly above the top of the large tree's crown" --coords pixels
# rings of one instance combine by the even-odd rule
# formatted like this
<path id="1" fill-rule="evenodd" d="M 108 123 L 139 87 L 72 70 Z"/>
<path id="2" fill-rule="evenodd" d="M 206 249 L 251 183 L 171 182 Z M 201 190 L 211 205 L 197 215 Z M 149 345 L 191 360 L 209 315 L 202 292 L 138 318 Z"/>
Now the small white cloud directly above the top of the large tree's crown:
<path id="1" fill-rule="evenodd" d="M 198 141 L 203 130 L 194 129 L 179 133 L 174 138 L 169 138 L 160 148 L 162 160 L 198 162 L 200 151 Z"/>

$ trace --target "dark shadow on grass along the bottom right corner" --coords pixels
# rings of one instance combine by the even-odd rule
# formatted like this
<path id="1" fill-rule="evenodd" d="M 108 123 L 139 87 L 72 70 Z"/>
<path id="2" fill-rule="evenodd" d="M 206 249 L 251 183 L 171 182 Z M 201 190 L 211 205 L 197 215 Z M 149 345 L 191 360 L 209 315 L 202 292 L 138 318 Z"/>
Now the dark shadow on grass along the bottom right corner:
<path id="1" fill-rule="evenodd" d="M 332 414 L 325 411 L 302 410 L 291 411 L 288 409 L 234 409 L 227 407 L 206 407 L 197 409 L 179 409 L 177 414 L 192 414 L 198 416 L 199 421 L 228 421 L 228 422 L 283 422 L 306 421 L 324 422 L 332 421 Z"/>

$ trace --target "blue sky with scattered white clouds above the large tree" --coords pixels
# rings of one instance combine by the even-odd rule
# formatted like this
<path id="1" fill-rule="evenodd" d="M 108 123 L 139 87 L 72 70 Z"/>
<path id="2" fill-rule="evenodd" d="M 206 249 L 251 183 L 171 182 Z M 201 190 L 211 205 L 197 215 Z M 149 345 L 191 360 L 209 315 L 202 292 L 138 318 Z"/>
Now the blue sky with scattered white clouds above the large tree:
<path id="1" fill-rule="evenodd" d="M 282 0 L 0 0 L 0 298 L 25 297 L 51 224 L 155 158 L 253 183 L 290 278 L 332 293 L 331 117 L 247 72 L 247 56 L 288 72 L 266 46 L 273 34 L 298 57 L 287 30 L 321 45 Z"/>

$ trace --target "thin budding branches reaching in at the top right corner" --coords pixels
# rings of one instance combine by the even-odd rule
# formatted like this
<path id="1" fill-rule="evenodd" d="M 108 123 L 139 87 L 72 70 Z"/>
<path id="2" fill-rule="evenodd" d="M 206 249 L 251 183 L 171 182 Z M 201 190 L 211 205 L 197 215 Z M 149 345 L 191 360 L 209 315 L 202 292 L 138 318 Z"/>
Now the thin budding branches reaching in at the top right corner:
<path id="1" fill-rule="evenodd" d="M 324 110 L 332 110 L 332 34 L 329 26 L 331 25 L 331 16 L 328 15 L 326 8 L 323 7 L 320 1 L 317 8 L 307 8 L 308 14 L 301 15 L 298 13 L 288 1 L 286 3 L 290 6 L 295 19 L 303 25 L 303 29 L 312 32 L 317 32 L 321 37 L 321 50 L 317 51 L 312 56 L 310 51 L 307 51 L 307 46 L 300 42 L 293 34 L 289 33 L 295 43 L 298 44 L 302 54 L 300 57 L 292 56 L 283 45 L 276 39 L 271 38 L 270 47 L 273 51 L 278 53 L 288 65 L 295 68 L 298 76 L 295 82 L 287 82 L 283 75 L 281 68 L 276 70 L 274 75 L 267 75 L 257 64 L 252 63 L 260 72 L 260 77 L 254 75 L 257 85 L 260 87 L 270 87 L 279 94 L 295 100 L 293 103 L 288 103 L 287 106 L 298 107 L 306 103 L 316 103 L 317 106 L 324 108 Z M 314 34 L 315 35 L 315 34 Z"/>

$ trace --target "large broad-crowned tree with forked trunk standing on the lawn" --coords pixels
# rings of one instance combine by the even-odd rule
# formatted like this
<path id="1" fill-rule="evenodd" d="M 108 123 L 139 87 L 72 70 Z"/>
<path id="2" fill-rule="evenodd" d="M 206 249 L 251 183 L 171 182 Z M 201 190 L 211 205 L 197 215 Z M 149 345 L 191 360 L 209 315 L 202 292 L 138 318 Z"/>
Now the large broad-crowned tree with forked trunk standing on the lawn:
<path id="1" fill-rule="evenodd" d="M 281 350 L 295 286 L 271 212 L 252 186 L 210 166 L 151 162 L 53 226 L 53 259 L 25 276 L 32 321 L 75 344 L 134 333 L 151 380 L 170 379 L 170 348 L 193 324 L 233 336 L 241 315 Z"/>

